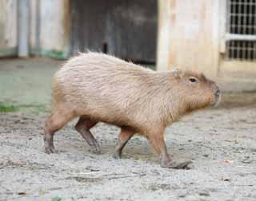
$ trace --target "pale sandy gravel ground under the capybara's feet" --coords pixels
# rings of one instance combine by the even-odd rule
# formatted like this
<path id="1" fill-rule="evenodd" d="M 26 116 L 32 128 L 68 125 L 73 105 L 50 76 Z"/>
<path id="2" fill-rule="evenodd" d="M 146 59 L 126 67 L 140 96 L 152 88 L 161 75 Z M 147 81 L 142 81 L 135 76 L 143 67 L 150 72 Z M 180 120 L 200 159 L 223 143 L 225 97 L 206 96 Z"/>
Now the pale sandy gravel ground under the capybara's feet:
<path id="1" fill-rule="evenodd" d="M 166 129 L 170 154 L 192 160 L 190 170 L 161 168 L 140 136 L 114 159 L 119 130 L 106 124 L 92 131 L 101 155 L 74 121 L 55 135 L 58 154 L 47 155 L 46 116 L 0 113 L 0 200 L 256 200 L 256 96 L 246 96 L 250 104 L 231 96 Z"/>

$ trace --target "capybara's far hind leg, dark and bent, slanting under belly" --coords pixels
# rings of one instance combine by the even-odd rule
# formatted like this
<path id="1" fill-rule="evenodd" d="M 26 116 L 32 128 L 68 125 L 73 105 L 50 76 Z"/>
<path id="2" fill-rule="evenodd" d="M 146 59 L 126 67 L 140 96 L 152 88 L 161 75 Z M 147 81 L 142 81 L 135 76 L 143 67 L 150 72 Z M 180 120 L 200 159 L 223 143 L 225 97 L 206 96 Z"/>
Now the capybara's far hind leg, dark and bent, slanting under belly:
<path id="1" fill-rule="evenodd" d="M 89 120 L 86 117 L 81 116 L 78 120 L 78 123 L 75 125 L 75 129 L 82 135 L 82 137 L 90 145 L 90 148 L 94 153 L 101 152 L 101 148 L 99 147 L 97 140 L 90 132 L 90 128 L 93 128 L 94 125 L 97 123 L 97 121 Z"/>

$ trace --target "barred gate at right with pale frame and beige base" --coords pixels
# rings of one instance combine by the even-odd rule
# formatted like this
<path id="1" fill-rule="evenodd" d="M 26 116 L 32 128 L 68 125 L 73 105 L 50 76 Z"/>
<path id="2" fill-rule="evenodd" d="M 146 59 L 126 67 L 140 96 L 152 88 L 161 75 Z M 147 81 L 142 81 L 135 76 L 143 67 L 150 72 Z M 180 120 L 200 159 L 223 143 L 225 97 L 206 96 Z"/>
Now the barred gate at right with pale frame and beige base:
<path id="1" fill-rule="evenodd" d="M 225 16 L 221 71 L 237 76 L 256 73 L 256 0 L 222 2 Z"/>

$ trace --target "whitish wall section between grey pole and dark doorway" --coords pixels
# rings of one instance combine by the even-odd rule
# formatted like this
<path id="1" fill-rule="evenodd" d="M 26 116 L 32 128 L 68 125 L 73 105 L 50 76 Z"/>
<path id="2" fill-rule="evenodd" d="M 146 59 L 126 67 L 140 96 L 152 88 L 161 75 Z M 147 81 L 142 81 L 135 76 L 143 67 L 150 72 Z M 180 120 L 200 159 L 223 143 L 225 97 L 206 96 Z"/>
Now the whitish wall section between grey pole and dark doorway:
<path id="1" fill-rule="evenodd" d="M 40 48 L 42 54 L 63 58 L 69 53 L 69 0 L 40 1 Z"/>

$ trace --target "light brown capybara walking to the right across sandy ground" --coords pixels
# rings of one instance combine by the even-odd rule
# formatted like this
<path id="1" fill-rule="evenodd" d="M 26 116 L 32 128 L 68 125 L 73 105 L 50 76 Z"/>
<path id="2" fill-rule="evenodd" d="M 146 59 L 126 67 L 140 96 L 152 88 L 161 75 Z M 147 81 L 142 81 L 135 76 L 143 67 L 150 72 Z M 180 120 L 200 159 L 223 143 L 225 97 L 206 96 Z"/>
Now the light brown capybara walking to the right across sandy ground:
<path id="1" fill-rule="evenodd" d="M 47 153 L 55 152 L 54 132 L 79 117 L 76 130 L 94 152 L 90 132 L 99 121 L 121 128 L 114 156 L 134 135 L 146 136 L 162 167 L 183 168 L 170 159 L 165 128 L 188 112 L 218 104 L 220 90 L 202 74 L 174 70 L 155 72 L 103 53 L 81 53 L 62 66 L 52 84 L 51 115 L 44 128 Z"/>

